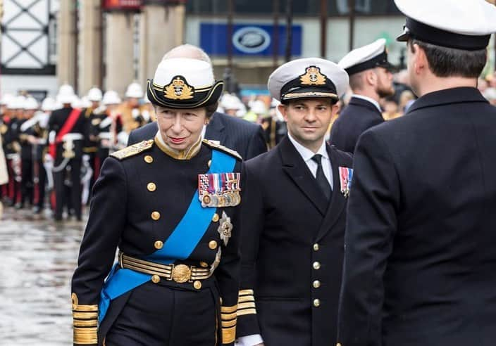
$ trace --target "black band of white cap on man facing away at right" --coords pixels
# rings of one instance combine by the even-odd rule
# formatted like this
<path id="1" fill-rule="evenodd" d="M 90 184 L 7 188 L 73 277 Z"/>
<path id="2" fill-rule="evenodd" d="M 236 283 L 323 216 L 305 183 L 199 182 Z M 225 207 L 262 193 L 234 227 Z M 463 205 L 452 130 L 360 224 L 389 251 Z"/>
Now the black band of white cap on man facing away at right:
<path id="1" fill-rule="evenodd" d="M 466 35 L 455 34 L 454 32 L 445 31 L 436 27 L 431 27 L 420 23 L 413 18 L 407 17 L 407 28 L 409 32 L 398 37 L 398 41 L 407 41 L 407 39 L 419 39 L 436 46 L 463 49 L 466 51 L 478 51 L 485 49 L 491 38 L 487 35 Z"/>

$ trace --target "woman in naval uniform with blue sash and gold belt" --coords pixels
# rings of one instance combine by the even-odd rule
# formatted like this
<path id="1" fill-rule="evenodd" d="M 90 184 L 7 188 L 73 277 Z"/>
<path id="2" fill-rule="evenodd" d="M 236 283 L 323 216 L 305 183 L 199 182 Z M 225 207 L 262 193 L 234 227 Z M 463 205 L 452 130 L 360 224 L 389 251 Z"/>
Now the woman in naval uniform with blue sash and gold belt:
<path id="1" fill-rule="evenodd" d="M 221 91 L 193 59 L 164 60 L 148 81 L 159 132 L 111 154 L 93 188 L 75 345 L 234 344 L 241 158 L 202 140 Z"/>

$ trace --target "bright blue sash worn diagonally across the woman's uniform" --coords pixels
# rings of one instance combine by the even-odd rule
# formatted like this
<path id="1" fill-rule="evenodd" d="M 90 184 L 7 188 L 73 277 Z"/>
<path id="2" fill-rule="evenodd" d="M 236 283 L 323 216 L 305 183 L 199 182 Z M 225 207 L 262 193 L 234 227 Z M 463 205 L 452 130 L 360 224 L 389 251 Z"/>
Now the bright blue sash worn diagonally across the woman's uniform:
<path id="1" fill-rule="evenodd" d="M 208 173 L 233 172 L 235 164 L 235 158 L 213 149 Z M 176 259 L 190 257 L 194 248 L 204 236 L 206 229 L 208 229 L 215 212 L 216 208 L 202 207 L 202 203 L 198 198 L 198 191 L 195 191 L 190 207 L 188 207 L 171 236 L 163 244 L 163 248 L 156 250 L 147 257 L 140 258 L 161 264 L 171 264 Z M 114 264 L 109 276 L 106 278 L 104 288 L 101 290 L 99 323 L 104 320 L 111 300 L 151 280 L 150 274 L 139 273 L 131 269 L 117 269 L 118 264 Z"/>

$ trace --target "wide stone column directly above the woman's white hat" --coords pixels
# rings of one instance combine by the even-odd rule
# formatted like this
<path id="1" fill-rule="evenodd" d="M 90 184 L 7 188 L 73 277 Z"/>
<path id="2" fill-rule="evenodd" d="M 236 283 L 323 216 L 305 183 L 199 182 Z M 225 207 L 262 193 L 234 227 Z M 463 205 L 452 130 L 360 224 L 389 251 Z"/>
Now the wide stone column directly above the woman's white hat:
<path id="1" fill-rule="evenodd" d="M 150 1 L 152 2 L 152 1 Z M 185 6 L 145 4 L 140 18 L 140 70 L 143 86 L 153 78 L 163 55 L 184 42 Z"/>

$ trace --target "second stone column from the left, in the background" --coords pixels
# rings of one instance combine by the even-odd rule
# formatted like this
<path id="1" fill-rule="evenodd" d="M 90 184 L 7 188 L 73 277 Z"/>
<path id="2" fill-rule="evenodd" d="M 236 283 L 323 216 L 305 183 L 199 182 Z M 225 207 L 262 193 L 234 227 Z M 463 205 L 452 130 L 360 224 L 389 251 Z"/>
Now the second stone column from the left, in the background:
<path id="1" fill-rule="evenodd" d="M 80 70 L 77 84 L 80 94 L 85 95 L 92 87 L 102 87 L 101 31 L 103 28 L 101 0 L 85 0 L 81 1 L 80 4 L 80 45 L 78 47 Z"/>

